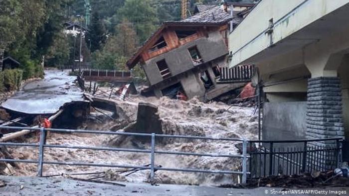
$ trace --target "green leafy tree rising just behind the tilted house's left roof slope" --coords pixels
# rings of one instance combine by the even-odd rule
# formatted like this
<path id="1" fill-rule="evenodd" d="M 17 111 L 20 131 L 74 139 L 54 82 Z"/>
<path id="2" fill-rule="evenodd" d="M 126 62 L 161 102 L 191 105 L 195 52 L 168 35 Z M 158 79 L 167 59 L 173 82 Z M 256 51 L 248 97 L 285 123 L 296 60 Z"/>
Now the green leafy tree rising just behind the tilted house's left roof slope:
<path id="1" fill-rule="evenodd" d="M 134 24 L 141 43 L 156 30 L 159 24 L 156 9 L 151 6 L 151 0 L 126 0 L 118 9 L 119 21 L 129 20 Z"/>

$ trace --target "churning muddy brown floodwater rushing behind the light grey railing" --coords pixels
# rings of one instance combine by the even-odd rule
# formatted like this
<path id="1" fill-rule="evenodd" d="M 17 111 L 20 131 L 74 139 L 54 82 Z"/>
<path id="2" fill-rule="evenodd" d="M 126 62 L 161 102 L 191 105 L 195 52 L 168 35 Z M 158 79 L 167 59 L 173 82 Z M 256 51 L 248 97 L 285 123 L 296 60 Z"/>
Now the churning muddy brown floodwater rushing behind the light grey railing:
<path id="1" fill-rule="evenodd" d="M 164 134 L 197 135 L 208 137 L 231 137 L 256 139 L 258 124 L 255 116 L 252 116 L 251 107 L 231 107 L 224 103 L 202 103 L 197 99 L 189 101 L 172 100 L 169 98 L 133 98 L 132 102 L 117 101 L 120 118 L 112 121 L 109 118 L 91 113 L 80 128 L 89 130 L 118 130 L 136 120 L 137 105 L 139 101 L 151 102 L 159 107 L 159 115 L 162 119 Z M 36 142 L 32 135 L 25 142 Z M 120 141 L 121 140 L 121 141 Z M 116 142 L 118 141 L 118 142 Z M 50 135 L 49 144 L 78 145 L 78 146 L 113 146 L 147 149 L 150 144 L 141 142 L 136 138 L 122 138 L 110 135 L 91 134 L 57 134 Z M 230 141 L 202 141 L 174 139 L 157 142 L 157 150 L 183 151 L 196 153 L 220 153 L 238 154 L 234 146 L 236 142 Z M 37 159 L 38 151 L 35 148 L 20 147 L 8 148 L 12 156 L 20 159 Z M 127 153 L 111 151 L 92 151 L 78 149 L 46 149 L 46 161 L 86 162 L 106 164 L 147 165 L 150 164 L 150 155 L 144 153 Z M 197 157 L 183 155 L 156 155 L 156 165 L 174 168 L 197 168 L 210 170 L 238 170 L 241 161 L 235 158 Z M 17 164 L 14 168 L 15 175 L 36 174 L 35 164 Z M 44 175 L 54 175 L 72 172 L 96 172 L 107 171 L 107 168 L 87 166 L 58 166 L 45 165 Z M 139 171 L 125 176 L 117 174 L 111 169 L 105 178 L 109 180 L 140 182 L 147 181 L 149 171 Z M 98 176 L 98 175 L 95 175 Z M 196 174 L 182 172 L 157 171 L 158 183 L 171 184 L 221 184 L 231 183 L 236 180 L 232 175 Z"/>

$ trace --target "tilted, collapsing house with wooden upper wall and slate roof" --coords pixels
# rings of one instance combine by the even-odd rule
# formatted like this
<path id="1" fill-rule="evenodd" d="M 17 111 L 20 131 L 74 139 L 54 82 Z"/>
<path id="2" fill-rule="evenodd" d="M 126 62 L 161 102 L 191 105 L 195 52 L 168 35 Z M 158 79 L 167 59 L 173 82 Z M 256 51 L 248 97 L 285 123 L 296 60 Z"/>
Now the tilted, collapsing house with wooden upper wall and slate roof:
<path id="1" fill-rule="evenodd" d="M 180 92 L 209 100 L 244 85 L 218 81 L 220 68 L 227 67 L 230 21 L 236 26 L 243 18 L 237 15 L 241 10 L 233 17 L 227 6 L 195 10 L 186 19 L 165 22 L 127 62 L 130 69 L 140 63 L 148 91 L 157 97 L 175 98 Z"/>

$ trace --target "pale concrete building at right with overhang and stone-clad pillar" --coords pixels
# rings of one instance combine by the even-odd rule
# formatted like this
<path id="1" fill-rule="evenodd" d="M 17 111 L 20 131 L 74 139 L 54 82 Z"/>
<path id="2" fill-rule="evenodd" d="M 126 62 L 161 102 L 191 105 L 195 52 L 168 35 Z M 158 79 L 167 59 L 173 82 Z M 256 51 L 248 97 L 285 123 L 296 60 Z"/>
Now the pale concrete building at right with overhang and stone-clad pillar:
<path id="1" fill-rule="evenodd" d="M 261 0 L 234 29 L 229 66 L 260 70 L 263 139 L 348 138 L 348 34 L 349 0 Z"/>

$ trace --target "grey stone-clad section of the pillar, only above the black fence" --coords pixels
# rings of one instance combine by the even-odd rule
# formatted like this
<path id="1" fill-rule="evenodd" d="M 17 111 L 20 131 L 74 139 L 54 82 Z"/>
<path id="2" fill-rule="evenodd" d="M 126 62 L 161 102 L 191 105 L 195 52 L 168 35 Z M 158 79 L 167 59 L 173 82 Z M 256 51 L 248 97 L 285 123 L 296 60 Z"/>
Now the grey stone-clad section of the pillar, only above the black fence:
<path id="1" fill-rule="evenodd" d="M 338 77 L 318 77 L 308 81 L 307 137 L 343 137 L 342 88 Z"/>

